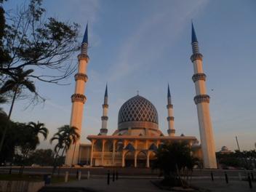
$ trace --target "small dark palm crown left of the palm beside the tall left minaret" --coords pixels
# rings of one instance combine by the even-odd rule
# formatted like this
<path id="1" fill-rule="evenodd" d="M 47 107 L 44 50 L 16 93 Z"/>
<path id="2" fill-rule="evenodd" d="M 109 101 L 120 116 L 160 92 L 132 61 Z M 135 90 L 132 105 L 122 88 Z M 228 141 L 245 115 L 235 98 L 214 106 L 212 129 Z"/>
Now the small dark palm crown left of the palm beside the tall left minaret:
<path id="1" fill-rule="evenodd" d="M 43 123 L 40 123 L 39 121 L 37 121 L 37 124 L 35 122 L 29 122 L 28 123 L 28 127 L 31 127 L 32 131 L 33 131 L 33 135 L 35 135 L 35 140 L 37 145 L 40 143 L 39 141 L 39 134 L 43 135 L 44 140 L 47 140 L 47 136 L 48 136 L 48 129 L 46 127 L 44 127 Z"/>

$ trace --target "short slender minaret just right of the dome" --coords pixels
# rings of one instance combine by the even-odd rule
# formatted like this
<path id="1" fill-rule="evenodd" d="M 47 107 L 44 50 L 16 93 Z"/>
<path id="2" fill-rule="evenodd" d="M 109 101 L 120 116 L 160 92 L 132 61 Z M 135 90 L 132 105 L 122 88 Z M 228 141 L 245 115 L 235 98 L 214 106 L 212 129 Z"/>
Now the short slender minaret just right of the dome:
<path id="1" fill-rule="evenodd" d="M 172 97 L 171 92 L 169 91 L 169 84 L 168 84 L 168 93 L 167 93 L 167 121 L 168 121 L 168 135 L 175 136 L 175 118 L 173 116 L 173 105 L 172 105 Z"/>

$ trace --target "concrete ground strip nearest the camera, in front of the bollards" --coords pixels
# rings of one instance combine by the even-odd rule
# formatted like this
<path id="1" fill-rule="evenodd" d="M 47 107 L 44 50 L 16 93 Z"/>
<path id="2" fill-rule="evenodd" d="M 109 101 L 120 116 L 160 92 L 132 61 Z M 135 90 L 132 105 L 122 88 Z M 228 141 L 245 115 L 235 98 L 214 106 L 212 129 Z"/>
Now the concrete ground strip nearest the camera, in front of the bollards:
<path id="1" fill-rule="evenodd" d="M 205 178 L 196 178 L 192 180 L 192 185 L 196 185 L 199 188 L 209 189 L 212 192 L 256 192 L 256 183 L 252 183 L 253 188 L 249 188 L 249 184 L 245 181 L 239 180 L 230 180 L 229 183 L 225 183 L 224 179 L 216 179 L 211 181 Z M 115 182 L 110 182 L 110 185 L 107 185 L 106 179 L 89 179 L 89 180 L 80 180 L 73 181 L 70 183 L 62 183 L 57 186 L 69 186 L 69 187 L 84 187 L 91 188 L 99 192 L 153 192 L 153 191 L 163 191 L 157 188 L 151 183 L 149 179 L 119 179 Z"/>

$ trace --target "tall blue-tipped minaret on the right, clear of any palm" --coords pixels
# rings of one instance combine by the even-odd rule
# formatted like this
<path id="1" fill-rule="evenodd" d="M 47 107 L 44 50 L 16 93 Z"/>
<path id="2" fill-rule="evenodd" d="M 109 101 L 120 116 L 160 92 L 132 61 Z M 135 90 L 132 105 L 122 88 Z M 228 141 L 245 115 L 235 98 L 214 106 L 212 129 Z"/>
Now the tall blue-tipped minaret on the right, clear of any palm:
<path id="1" fill-rule="evenodd" d="M 196 32 L 192 23 L 192 51 L 191 61 L 193 63 L 194 74 L 192 76 L 196 87 L 196 97 L 193 98 L 196 103 L 197 115 L 199 119 L 199 131 L 201 137 L 201 150 L 204 158 L 204 168 L 217 168 L 215 156 L 215 140 L 212 130 L 212 121 L 209 114 L 209 95 L 205 85 L 206 75 L 203 71 L 203 55 L 199 52 L 199 43 L 196 39 Z"/>

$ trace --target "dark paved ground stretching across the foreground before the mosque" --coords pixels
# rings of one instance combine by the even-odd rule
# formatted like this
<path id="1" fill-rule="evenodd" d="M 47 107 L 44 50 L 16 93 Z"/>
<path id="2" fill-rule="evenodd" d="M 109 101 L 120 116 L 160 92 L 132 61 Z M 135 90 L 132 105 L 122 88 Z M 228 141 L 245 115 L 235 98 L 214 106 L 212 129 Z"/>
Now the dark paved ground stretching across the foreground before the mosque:
<path id="1" fill-rule="evenodd" d="M 12 167 L 12 172 L 17 172 L 20 167 Z M 159 172 L 152 171 L 151 169 L 138 169 L 138 168 L 116 168 L 119 172 L 119 180 L 107 185 L 106 174 L 108 170 L 113 172 L 113 167 L 90 167 L 90 168 L 69 168 L 62 167 L 60 175 L 76 175 L 77 171 L 81 171 L 80 181 L 71 181 L 69 183 L 61 183 L 56 186 L 63 187 L 81 187 L 91 188 L 95 191 L 163 191 L 151 183 L 151 180 L 159 180 Z M 0 173 L 9 172 L 9 167 L 0 167 Z M 27 174 L 49 174 L 52 172 L 52 167 L 25 167 L 24 173 Z M 87 173 L 90 172 L 90 179 L 87 180 Z M 211 180 L 211 172 L 214 176 L 214 181 Z M 228 175 L 229 183 L 225 183 L 225 173 Z M 223 169 L 194 169 L 191 184 L 199 188 L 209 189 L 212 192 L 256 192 L 256 182 L 252 182 L 252 188 L 249 188 L 247 181 L 239 179 L 246 178 L 248 174 L 253 174 L 256 177 L 255 171 L 245 170 L 223 170 Z M 112 175 L 111 175 L 112 176 Z M 112 179 L 112 177 L 111 177 Z"/>

